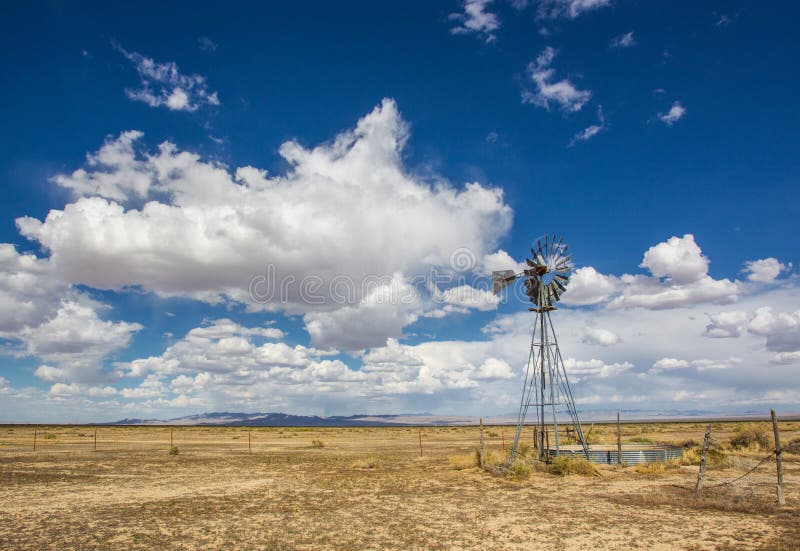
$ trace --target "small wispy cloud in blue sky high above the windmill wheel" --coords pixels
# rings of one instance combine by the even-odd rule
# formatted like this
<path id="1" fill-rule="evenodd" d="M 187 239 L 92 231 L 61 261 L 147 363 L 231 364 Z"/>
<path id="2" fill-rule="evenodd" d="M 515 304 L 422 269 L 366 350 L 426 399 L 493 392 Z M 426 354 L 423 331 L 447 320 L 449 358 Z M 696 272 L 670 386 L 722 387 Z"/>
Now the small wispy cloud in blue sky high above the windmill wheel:
<path id="1" fill-rule="evenodd" d="M 556 50 L 548 46 L 535 61 L 528 64 L 526 73 L 535 88 L 523 89 L 522 103 L 531 103 L 547 110 L 551 103 L 556 103 L 564 112 L 580 111 L 592 98 L 592 92 L 579 90 L 568 79 L 554 81 L 555 69 L 551 64 L 556 53 Z"/>

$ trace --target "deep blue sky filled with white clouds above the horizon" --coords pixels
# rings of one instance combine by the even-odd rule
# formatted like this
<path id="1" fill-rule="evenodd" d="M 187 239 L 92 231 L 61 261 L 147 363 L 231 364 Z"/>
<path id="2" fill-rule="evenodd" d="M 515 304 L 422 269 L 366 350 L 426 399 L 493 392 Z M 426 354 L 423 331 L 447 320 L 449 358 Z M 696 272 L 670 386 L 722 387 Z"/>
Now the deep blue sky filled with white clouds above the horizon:
<path id="1" fill-rule="evenodd" d="M 800 407 L 791 6 L 0 10 L 2 421 L 513 411 L 545 233 L 581 408 Z"/>

